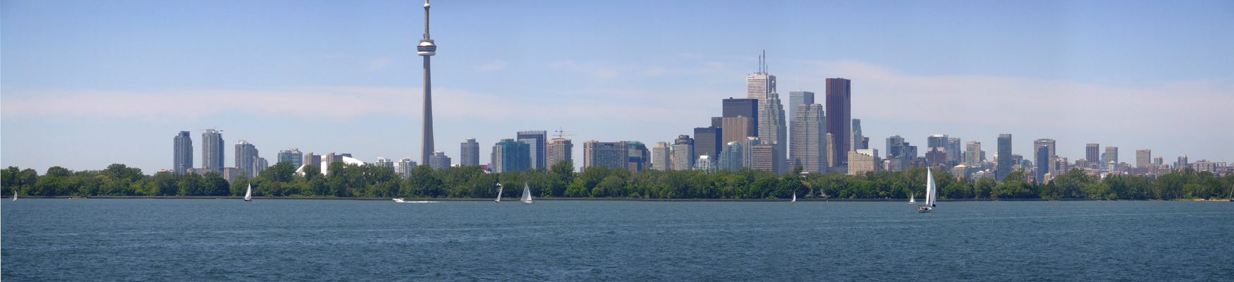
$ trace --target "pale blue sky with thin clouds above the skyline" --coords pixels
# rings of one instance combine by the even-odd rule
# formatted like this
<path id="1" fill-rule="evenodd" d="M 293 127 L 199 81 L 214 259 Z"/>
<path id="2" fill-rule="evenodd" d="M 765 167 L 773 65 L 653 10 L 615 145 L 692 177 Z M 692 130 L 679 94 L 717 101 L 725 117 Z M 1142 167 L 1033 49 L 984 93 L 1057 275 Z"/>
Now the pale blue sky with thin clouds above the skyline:
<path id="1" fill-rule="evenodd" d="M 173 137 L 421 159 L 422 2 L 0 1 L 0 166 L 146 174 Z M 1232 1 L 434 1 L 436 149 L 517 131 L 654 147 L 744 96 L 851 79 L 871 147 L 998 134 L 1234 161 Z M 553 138 L 553 137 L 550 137 Z"/>

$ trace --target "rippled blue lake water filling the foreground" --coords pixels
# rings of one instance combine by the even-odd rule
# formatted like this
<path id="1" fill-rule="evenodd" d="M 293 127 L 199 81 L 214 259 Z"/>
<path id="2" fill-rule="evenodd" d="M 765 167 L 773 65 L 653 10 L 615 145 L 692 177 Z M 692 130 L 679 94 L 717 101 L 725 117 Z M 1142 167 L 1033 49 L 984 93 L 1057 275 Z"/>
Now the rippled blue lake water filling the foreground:
<path id="1" fill-rule="evenodd" d="M 2 201 L 4 281 L 1232 281 L 1230 202 Z"/>

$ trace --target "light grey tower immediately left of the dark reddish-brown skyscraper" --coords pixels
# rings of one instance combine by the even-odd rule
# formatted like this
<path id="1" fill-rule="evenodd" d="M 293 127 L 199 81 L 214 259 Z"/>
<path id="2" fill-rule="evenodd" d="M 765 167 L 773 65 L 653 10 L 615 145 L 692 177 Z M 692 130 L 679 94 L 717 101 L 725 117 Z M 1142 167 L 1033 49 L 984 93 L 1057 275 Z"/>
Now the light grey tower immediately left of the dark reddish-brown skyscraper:
<path id="1" fill-rule="evenodd" d="M 797 116 L 792 122 L 790 166 L 796 169 L 801 165 L 802 171 L 826 174 L 827 148 L 823 148 L 823 143 L 827 138 L 827 117 L 823 115 L 823 105 L 797 105 L 795 112 Z"/>

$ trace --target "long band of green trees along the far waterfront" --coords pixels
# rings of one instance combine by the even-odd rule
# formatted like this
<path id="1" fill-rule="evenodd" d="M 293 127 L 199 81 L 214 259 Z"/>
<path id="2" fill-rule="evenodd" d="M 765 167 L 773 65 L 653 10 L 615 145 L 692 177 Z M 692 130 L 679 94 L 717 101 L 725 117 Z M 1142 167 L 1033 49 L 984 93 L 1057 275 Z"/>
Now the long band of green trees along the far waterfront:
<path id="1" fill-rule="evenodd" d="M 566 161 L 550 167 L 486 174 L 480 166 L 433 170 L 427 165 L 401 177 L 391 167 L 329 164 L 329 175 L 316 165 L 297 175 L 290 163 L 279 163 L 257 177 L 242 174 L 227 182 L 217 172 L 144 175 L 141 169 L 114 164 L 105 170 L 72 171 L 60 166 L 38 175 L 33 169 L 9 166 L 2 174 L 2 192 L 23 196 L 243 196 L 248 185 L 254 196 L 280 197 L 424 197 L 494 198 L 497 183 L 510 197 L 522 195 L 526 185 L 536 197 L 613 198 L 922 198 L 926 169 L 844 174 L 801 175 L 801 167 L 784 175 L 764 170 L 703 172 L 587 167 L 581 172 Z M 1049 183 L 1025 181 L 1024 171 L 1013 171 L 1003 182 L 993 179 L 956 179 L 934 172 L 939 198 L 1099 198 L 1099 199 L 1218 199 L 1230 197 L 1234 175 L 1218 177 L 1191 169 L 1145 176 L 1112 175 L 1106 179 L 1071 170 Z"/>

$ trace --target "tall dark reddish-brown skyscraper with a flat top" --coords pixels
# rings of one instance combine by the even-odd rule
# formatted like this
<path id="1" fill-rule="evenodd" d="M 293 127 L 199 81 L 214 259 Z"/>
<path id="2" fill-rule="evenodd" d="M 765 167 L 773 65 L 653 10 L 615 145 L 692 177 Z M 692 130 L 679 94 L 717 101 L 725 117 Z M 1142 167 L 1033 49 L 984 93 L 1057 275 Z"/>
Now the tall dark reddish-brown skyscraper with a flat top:
<path id="1" fill-rule="evenodd" d="M 849 132 L 853 131 L 850 84 L 848 79 L 827 79 L 827 133 L 835 139 L 835 148 L 829 154 L 835 158 L 837 166 L 848 164 Z"/>

